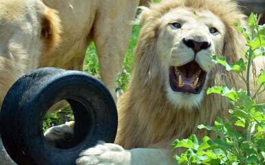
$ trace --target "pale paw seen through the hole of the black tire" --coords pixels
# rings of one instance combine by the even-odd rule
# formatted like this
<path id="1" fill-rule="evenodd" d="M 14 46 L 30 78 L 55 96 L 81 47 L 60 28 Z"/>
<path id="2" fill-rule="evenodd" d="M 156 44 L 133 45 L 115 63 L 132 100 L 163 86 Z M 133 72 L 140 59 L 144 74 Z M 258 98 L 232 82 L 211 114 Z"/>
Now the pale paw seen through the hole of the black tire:
<path id="1" fill-rule="evenodd" d="M 70 121 L 47 129 L 44 133 L 44 137 L 53 146 L 62 146 L 72 138 L 73 134 L 74 122 Z"/>

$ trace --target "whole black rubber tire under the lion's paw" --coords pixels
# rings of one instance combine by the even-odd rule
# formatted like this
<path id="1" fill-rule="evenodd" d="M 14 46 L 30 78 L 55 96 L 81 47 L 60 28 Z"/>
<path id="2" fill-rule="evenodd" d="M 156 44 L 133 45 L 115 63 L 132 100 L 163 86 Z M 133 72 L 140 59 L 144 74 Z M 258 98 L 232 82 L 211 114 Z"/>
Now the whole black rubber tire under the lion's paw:
<path id="1" fill-rule="evenodd" d="M 67 100 L 74 113 L 74 136 L 55 148 L 43 136 L 43 118 L 60 100 Z M 17 164 L 75 164 L 78 154 L 98 140 L 114 142 L 118 115 L 100 80 L 85 72 L 46 67 L 19 78 L 10 88 L 0 125 L 6 151 Z"/>

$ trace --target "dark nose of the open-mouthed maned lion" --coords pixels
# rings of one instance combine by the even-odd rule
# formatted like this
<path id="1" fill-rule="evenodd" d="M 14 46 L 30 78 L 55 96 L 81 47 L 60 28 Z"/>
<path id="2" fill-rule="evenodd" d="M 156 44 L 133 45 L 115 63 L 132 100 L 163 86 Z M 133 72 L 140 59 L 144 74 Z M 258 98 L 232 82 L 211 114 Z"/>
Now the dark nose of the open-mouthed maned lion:
<path id="1" fill-rule="evenodd" d="M 187 47 L 191 47 L 191 49 L 194 51 L 195 54 L 200 52 L 200 50 L 206 50 L 210 47 L 211 43 L 208 43 L 206 41 L 195 41 L 195 40 L 187 40 L 183 39 L 184 45 Z"/>

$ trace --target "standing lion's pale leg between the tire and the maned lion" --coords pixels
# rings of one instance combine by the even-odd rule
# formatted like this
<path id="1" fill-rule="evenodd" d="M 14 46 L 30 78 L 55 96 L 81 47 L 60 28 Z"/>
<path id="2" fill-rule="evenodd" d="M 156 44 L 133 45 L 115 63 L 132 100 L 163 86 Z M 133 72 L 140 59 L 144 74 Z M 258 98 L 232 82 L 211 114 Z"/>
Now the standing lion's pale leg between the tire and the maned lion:
<path id="1" fill-rule="evenodd" d="M 119 4 L 119 7 L 109 10 L 113 3 Z M 100 77 L 115 101 L 119 96 L 115 94 L 118 83 L 114 80 L 122 71 L 132 30 L 130 21 L 134 20 L 137 5 L 138 1 L 107 1 L 99 7 L 94 23 L 93 38 L 98 52 Z"/>

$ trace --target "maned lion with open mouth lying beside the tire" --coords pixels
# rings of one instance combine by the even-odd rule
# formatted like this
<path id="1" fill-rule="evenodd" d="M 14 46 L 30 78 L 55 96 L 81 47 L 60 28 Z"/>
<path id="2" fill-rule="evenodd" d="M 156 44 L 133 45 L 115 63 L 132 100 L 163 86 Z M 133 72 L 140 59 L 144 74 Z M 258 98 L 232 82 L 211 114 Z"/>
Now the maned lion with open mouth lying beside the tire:
<path id="1" fill-rule="evenodd" d="M 99 142 L 80 154 L 81 164 L 177 164 L 171 143 L 192 133 L 199 140 L 213 131 L 216 116 L 227 118 L 231 104 L 213 85 L 243 87 L 237 74 L 214 65 L 210 57 L 228 63 L 244 57 L 246 39 L 233 23 L 246 27 L 246 16 L 235 1 L 164 0 L 142 8 L 142 30 L 136 47 L 134 72 L 118 104 L 115 144 Z M 262 63 L 256 63 L 257 70 Z"/>

